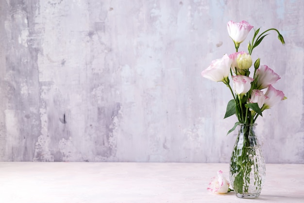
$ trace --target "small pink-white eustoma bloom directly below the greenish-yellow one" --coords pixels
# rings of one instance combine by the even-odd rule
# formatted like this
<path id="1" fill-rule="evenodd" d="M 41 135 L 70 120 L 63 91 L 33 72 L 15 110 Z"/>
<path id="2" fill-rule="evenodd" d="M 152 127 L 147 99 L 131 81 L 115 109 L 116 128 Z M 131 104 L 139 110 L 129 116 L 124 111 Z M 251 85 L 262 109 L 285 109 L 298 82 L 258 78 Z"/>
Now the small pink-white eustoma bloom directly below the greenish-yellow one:
<path id="1" fill-rule="evenodd" d="M 253 78 L 247 77 L 245 75 L 235 75 L 232 76 L 233 79 L 233 88 L 236 91 L 237 95 L 246 94 L 251 88 L 251 82 Z"/>

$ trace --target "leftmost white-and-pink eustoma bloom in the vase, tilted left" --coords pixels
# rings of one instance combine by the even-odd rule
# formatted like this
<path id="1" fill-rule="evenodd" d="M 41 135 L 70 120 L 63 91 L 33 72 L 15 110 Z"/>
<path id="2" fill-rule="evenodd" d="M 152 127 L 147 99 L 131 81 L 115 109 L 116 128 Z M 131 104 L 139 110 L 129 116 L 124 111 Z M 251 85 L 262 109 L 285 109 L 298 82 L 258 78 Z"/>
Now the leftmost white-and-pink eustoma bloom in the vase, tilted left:
<path id="1" fill-rule="evenodd" d="M 202 76 L 215 82 L 224 81 L 230 73 L 231 63 L 232 60 L 225 54 L 222 58 L 212 61 L 211 65 L 203 70 Z"/>

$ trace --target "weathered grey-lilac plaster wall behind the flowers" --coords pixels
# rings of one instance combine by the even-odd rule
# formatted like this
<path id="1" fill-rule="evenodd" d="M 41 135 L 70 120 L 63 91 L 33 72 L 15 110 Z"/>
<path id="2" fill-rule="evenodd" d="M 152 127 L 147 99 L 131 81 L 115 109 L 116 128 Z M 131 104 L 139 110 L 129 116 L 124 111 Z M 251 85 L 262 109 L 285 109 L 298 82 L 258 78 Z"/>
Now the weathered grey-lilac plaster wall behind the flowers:
<path id="1" fill-rule="evenodd" d="M 230 92 L 201 71 L 229 20 L 288 98 L 259 118 L 267 163 L 304 163 L 303 0 L 0 0 L 0 160 L 229 162 Z M 246 51 L 247 41 L 240 51 Z"/>

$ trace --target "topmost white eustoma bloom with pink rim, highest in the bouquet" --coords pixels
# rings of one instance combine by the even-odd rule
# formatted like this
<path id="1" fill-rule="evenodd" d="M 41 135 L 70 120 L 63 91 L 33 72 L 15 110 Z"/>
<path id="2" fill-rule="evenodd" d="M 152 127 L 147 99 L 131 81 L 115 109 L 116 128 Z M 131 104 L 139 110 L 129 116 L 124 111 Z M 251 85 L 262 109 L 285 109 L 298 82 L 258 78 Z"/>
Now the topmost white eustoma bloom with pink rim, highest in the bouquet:
<path id="1" fill-rule="evenodd" d="M 236 44 L 242 43 L 252 28 L 253 26 L 245 20 L 241 22 L 234 22 L 230 20 L 227 23 L 228 34 Z"/>

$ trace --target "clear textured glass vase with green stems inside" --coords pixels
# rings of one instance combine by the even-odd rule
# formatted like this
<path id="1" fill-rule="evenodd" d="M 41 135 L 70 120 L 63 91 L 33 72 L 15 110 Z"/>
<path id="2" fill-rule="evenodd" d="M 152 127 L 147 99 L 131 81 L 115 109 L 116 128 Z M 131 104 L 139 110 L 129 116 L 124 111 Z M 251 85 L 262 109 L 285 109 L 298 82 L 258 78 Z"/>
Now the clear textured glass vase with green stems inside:
<path id="1" fill-rule="evenodd" d="M 230 161 L 230 184 L 239 198 L 257 198 L 265 181 L 265 161 L 256 124 L 239 124 Z"/>

